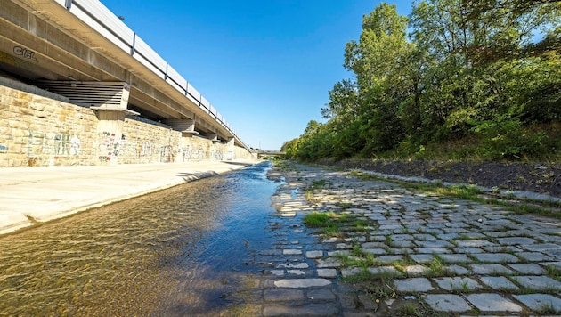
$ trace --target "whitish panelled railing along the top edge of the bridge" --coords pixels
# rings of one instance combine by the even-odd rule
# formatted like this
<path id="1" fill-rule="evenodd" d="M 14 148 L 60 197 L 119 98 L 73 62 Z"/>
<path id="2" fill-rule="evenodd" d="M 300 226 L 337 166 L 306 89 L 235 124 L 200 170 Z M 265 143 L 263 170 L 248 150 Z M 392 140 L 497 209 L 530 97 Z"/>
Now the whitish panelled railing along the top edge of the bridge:
<path id="1" fill-rule="evenodd" d="M 129 53 L 136 61 L 140 61 L 142 65 L 164 79 L 175 90 L 183 93 L 186 98 L 207 112 L 247 148 L 212 104 L 105 5 L 98 0 L 54 1 L 61 4 L 78 19 L 83 20 L 111 43 Z"/>

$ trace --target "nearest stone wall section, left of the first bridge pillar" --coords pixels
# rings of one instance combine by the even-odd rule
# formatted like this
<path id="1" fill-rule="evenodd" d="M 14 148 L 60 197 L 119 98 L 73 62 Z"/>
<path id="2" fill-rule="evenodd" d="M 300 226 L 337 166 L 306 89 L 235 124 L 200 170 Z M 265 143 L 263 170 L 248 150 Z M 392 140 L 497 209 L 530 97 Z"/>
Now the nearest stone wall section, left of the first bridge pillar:
<path id="1" fill-rule="evenodd" d="M 93 110 L 0 85 L 0 167 L 93 165 Z"/>

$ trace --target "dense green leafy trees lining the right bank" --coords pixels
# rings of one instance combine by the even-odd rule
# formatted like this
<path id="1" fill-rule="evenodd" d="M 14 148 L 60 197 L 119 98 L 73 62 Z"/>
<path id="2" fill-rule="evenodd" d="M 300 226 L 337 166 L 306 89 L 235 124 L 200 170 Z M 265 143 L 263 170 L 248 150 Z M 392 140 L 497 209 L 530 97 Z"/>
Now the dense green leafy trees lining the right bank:
<path id="1" fill-rule="evenodd" d="M 409 17 L 379 4 L 345 45 L 321 109 L 290 157 L 540 157 L 561 139 L 561 2 L 426 0 Z"/>

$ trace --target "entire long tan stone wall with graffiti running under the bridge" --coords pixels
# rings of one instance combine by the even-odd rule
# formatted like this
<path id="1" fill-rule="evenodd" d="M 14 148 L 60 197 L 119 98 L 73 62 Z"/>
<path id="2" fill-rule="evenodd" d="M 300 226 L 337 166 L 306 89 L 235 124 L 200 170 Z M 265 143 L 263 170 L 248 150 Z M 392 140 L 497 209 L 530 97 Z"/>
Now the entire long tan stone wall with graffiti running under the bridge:
<path id="1" fill-rule="evenodd" d="M 126 112 L 98 111 L 0 85 L 0 167 L 251 159 L 248 150 Z"/>

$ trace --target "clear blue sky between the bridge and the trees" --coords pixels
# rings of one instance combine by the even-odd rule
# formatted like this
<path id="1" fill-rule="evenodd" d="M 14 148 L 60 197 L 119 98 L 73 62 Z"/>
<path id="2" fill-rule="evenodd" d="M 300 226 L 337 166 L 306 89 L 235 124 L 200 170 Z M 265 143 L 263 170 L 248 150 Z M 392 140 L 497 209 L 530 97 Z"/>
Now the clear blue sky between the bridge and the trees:
<path id="1" fill-rule="evenodd" d="M 329 90 L 352 77 L 373 0 L 101 0 L 212 103 L 240 139 L 279 150 L 321 121 Z M 402 15 L 411 0 L 387 1 Z"/>

